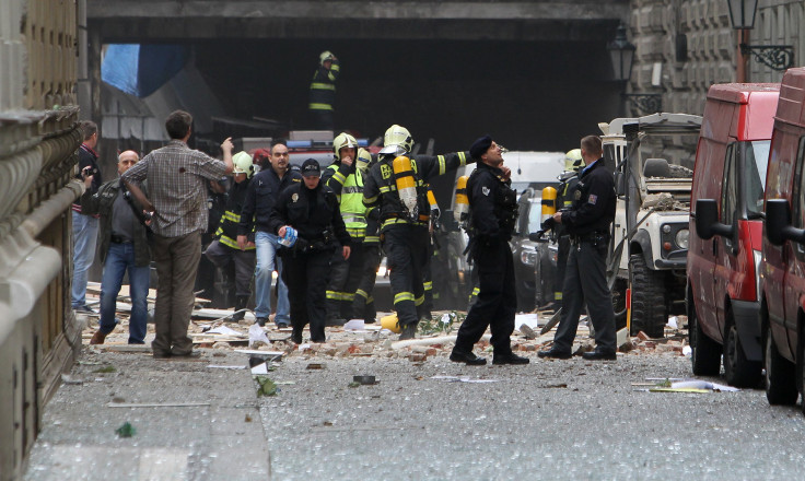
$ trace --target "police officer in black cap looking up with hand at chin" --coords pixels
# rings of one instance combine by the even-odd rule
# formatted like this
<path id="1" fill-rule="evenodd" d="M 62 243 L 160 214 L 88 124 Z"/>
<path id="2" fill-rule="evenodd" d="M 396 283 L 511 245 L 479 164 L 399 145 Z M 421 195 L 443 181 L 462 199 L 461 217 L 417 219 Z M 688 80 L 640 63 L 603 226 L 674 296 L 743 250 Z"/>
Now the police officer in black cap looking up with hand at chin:
<path id="1" fill-rule="evenodd" d="M 502 169 L 500 146 L 491 137 L 476 140 L 469 150 L 478 168 L 467 181 L 469 224 L 472 230 L 470 255 L 478 266 L 478 301 L 458 329 L 456 345 L 450 355 L 454 362 L 483 365 L 487 360 L 472 353 L 472 345 L 491 327 L 494 349 L 492 364 L 528 364 L 528 357 L 512 352 L 517 296 L 514 263 L 509 241 L 517 218 L 516 192 L 511 189 L 511 171 Z"/>

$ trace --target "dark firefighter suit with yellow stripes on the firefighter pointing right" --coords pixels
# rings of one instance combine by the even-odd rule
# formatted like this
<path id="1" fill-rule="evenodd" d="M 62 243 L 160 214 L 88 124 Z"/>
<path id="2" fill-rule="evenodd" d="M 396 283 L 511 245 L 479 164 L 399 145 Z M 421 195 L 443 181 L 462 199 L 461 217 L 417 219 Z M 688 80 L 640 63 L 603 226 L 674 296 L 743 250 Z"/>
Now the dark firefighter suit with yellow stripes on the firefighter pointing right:
<path id="1" fill-rule="evenodd" d="M 383 250 L 390 269 L 394 309 L 402 327 L 402 339 L 413 337 L 417 322 L 424 315 L 424 289 L 422 267 L 428 256 L 428 222 L 430 203 L 427 184 L 429 179 L 472 163 L 469 152 L 411 159 L 417 186 L 418 215 L 410 213 L 397 192 L 393 162 L 396 155 L 384 155 L 364 178 L 363 203 L 380 207 Z"/>

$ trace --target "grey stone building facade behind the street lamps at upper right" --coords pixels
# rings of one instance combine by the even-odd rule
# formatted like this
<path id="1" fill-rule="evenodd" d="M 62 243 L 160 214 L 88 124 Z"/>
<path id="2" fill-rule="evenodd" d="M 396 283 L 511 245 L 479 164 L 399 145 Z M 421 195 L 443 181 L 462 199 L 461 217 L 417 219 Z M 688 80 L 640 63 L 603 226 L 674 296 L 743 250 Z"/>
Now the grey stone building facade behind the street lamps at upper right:
<path id="1" fill-rule="evenodd" d="M 788 45 L 793 66 L 805 62 L 805 1 L 760 0 L 755 27 L 745 43 L 752 46 Z M 739 31 L 730 22 L 727 0 L 633 0 L 629 21 L 635 45 L 630 94 L 662 98 L 662 110 L 701 115 L 708 89 L 738 79 Z M 747 82 L 780 82 L 773 70 L 752 55 L 745 57 Z M 639 108 L 637 96 L 626 96 L 628 115 Z"/>

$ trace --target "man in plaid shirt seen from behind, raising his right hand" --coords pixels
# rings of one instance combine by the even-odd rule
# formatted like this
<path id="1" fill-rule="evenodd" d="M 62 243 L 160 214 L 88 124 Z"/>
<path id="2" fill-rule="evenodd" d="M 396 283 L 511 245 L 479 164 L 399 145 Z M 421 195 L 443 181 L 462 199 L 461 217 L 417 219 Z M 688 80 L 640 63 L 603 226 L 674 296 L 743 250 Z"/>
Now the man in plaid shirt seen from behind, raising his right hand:
<path id="1" fill-rule="evenodd" d="M 187 146 L 192 116 L 176 110 L 165 120 L 171 142 L 145 155 L 126 171 L 121 179 L 149 211 L 153 258 L 159 283 L 154 322 L 156 337 L 151 343 L 154 357 L 188 356 L 192 341 L 187 326 L 195 302 L 198 262 L 201 258 L 201 233 L 207 230 L 207 183 L 230 174 L 232 141 L 221 144 L 223 162 Z M 145 198 L 139 185 L 148 179 Z"/>

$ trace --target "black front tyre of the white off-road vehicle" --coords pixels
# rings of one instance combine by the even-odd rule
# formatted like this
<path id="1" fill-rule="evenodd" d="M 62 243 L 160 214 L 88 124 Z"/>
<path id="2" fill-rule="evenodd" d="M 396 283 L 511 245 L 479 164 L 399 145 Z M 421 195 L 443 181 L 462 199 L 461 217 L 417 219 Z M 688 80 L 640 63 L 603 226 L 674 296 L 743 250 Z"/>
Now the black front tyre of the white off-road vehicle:
<path id="1" fill-rule="evenodd" d="M 665 277 L 645 265 L 642 254 L 629 257 L 632 286 L 632 328 L 634 336 L 641 330 L 652 338 L 665 336 L 668 307 L 665 303 Z"/>

